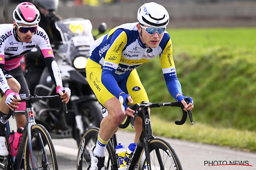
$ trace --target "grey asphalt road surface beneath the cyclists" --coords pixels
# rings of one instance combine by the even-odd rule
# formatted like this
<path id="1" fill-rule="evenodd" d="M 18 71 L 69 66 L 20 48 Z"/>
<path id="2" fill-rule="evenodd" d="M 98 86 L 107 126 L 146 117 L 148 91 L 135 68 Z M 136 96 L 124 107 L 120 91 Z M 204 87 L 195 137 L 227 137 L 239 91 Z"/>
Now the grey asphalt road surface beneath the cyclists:
<path id="1" fill-rule="evenodd" d="M 11 122 L 11 130 L 16 129 L 13 120 Z M 117 132 L 118 142 L 125 145 L 125 147 L 128 147 L 133 142 L 133 139 L 134 133 L 120 130 Z M 235 151 L 224 147 L 178 139 L 163 139 L 168 141 L 174 148 L 184 170 L 256 170 L 256 153 Z M 75 140 L 53 139 L 53 143 L 58 157 L 59 169 L 75 170 L 78 151 Z M 230 163 L 237 165 L 219 165 Z"/>

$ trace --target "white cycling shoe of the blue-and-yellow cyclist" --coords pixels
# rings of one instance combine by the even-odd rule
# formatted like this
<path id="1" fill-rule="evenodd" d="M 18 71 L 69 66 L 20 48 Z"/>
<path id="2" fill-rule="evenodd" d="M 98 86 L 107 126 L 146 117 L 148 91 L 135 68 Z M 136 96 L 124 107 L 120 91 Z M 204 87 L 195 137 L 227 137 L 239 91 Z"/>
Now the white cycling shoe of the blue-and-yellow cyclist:
<path id="1" fill-rule="evenodd" d="M 95 146 L 91 147 L 91 150 L 90 150 L 90 157 L 91 157 L 91 169 L 90 170 L 105 170 L 105 167 L 104 167 L 105 156 L 103 158 L 94 156 L 93 150 L 94 150 Z"/>

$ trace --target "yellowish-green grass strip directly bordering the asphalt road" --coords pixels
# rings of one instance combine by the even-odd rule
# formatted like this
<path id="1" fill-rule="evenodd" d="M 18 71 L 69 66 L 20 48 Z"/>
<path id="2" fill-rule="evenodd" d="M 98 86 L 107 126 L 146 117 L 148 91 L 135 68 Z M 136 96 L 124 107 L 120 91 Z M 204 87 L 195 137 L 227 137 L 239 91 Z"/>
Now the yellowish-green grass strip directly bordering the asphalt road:
<path id="1" fill-rule="evenodd" d="M 167 122 L 154 115 L 151 115 L 151 122 L 154 135 L 256 152 L 256 132 L 213 128 L 195 121 L 191 125 L 189 120 L 183 125 L 176 125 L 174 121 Z M 131 126 L 125 130 L 134 131 Z"/>

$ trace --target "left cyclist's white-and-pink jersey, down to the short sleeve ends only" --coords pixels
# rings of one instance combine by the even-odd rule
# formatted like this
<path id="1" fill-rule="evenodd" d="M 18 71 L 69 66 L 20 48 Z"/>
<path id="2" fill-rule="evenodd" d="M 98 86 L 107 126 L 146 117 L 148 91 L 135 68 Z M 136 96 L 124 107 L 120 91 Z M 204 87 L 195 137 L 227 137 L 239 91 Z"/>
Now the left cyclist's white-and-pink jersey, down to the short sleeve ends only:
<path id="1" fill-rule="evenodd" d="M 44 57 L 54 57 L 49 38 L 41 27 L 30 43 L 20 42 L 16 36 L 13 24 L 0 24 L 0 64 L 4 64 L 4 70 L 17 68 L 24 55 L 35 46 L 41 49 Z"/>

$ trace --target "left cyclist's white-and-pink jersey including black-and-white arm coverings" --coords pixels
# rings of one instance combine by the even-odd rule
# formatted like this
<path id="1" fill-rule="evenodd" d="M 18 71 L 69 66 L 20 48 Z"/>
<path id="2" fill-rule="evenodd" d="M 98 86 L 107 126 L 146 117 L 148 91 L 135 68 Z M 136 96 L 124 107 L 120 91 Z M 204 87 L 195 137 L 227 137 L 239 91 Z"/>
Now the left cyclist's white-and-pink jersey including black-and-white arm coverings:
<path id="1" fill-rule="evenodd" d="M 13 24 L 0 24 L 0 89 L 5 92 L 10 89 L 3 71 L 11 71 L 20 65 L 20 60 L 26 53 L 38 46 L 47 60 L 45 63 L 55 85 L 62 87 L 62 79 L 59 68 L 54 58 L 53 49 L 48 35 L 38 27 L 30 43 L 20 42 L 13 29 Z M 51 58 L 52 57 L 52 58 Z M 4 69 L 4 70 L 3 70 Z"/>

